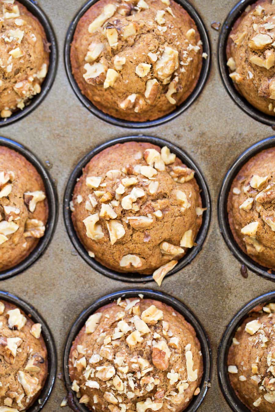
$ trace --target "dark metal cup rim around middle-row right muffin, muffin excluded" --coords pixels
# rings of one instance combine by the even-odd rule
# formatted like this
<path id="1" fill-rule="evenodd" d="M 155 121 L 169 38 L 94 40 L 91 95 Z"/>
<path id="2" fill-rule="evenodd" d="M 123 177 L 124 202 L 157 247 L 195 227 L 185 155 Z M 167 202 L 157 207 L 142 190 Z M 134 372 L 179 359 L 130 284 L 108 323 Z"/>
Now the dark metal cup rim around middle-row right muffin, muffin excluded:
<path id="1" fill-rule="evenodd" d="M 228 213 L 227 213 L 227 200 L 230 187 L 233 183 L 233 180 L 237 176 L 237 173 L 240 171 L 242 166 L 246 164 L 251 157 L 255 156 L 257 153 L 262 150 L 268 149 L 269 147 L 275 147 L 275 136 L 271 136 L 260 142 L 254 144 L 245 150 L 242 155 L 240 155 L 237 160 L 230 167 L 229 171 L 226 173 L 226 176 L 223 180 L 219 200 L 218 200 L 218 219 L 221 234 L 223 239 L 226 241 L 228 248 L 231 250 L 235 258 L 237 258 L 243 265 L 247 266 L 252 272 L 275 281 L 275 272 L 268 272 L 268 268 L 260 265 L 259 263 L 252 260 L 246 253 L 242 251 L 237 242 L 235 241 L 233 234 L 231 232 L 229 222 L 228 222 Z"/>

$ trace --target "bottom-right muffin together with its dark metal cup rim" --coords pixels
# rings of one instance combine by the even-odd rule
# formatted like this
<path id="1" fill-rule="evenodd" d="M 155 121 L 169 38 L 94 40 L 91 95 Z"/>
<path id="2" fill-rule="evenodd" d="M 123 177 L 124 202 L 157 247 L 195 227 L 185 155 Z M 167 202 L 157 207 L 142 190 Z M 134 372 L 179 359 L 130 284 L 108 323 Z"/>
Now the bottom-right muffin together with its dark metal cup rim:
<path id="1" fill-rule="evenodd" d="M 223 395 L 235 412 L 274 409 L 275 293 L 261 295 L 234 316 L 219 345 Z"/>

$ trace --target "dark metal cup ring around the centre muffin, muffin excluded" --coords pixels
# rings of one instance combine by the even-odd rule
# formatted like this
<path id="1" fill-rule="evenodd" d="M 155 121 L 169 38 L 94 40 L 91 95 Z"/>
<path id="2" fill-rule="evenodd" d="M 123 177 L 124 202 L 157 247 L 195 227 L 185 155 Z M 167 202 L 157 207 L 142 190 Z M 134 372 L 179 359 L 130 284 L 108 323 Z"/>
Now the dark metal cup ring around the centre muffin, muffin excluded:
<path id="1" fill-rule="evenodd" d="M 176 272 L 179 272 L 181 269 L 183 269 L 183 267 L 188 265 L 195 258 L 197 253 L 199 253 L 200 250 L 202 249 L 202 245 L 207 236 L 210 219 L 211 219 L 211 200 L 210 200 L 210 194 L 209 194 L 209 190 L 207 187 L 207 183 L 206 183 L 204 176 L 202 175 L 202 172 L 198 168 L 198 166 L 195 164 L 195 162 L 190 158 L 190 156 L 186 152 L 181 150 L 179 147 L 177 147 L 173 143 L 170 143 L 166 140 L 163 140 L 157 137 L 151 137 L 151 136 L 120 137 L 120 138 L 110 140 L 106 143 L 103 143 L 102 145 L 91 150 L 85 157 L 83 157 L 80 160 L 80 162 L 75 167 L 75 169 L 73 170 L 73 173 L 71 174 L 68 180 L 65 194 L 64 194 L 64 200 L 63 200 L 63 217 L 64 217 L 67 232 L 73 243 L 73 246 L 78 251 L 80 256 L 85 260 L 85 262 L 87 262 L 88 265 L 90 265 L 94 270 L 112 279 L 116 279 L 116 280 L 123 281 L 123 282 L 135 282 L 135 283 L 136 282 L 150 282 L 150 281 L 153 281 L 152 275 L 143 275 L 143 274 L 130 273 L 130 272 L 127 274 L 123 272 L 121 273 L 116 272 L 113 269 L 108 269 L 106 266 L 101 265 L 101 263 L 97 262 L 94 258 L 90 258 L 87 250 L 84 248 L 84 246 L 78 239 L 78 236 L 75 232 L 75 229 L 73 227 L 73 222 L 71 219 L 70 201 L 72 199 L 72 194 L 73 194 L 75 184 L 77 183 L 77 179 L 80 178 L 80 176 L 82 175 L 82 169 L 92 159 L 92 157 L 94 157 L 96 154 L 106 149 L 107 147 L 113 146 L 117 143 L 125 143 L 125 142 L 130 142 L 130 141 L 148 142 L 148 143 L 152 143 L 154 145 L 160 146 L 160 147 L 167 146 L 169 147 L 171 152 L 175 153 L 176 156 L 179 157 L 179 159 L 181 159 L 181 161 L 184 164 L 186 164 L 191 169 L 195 170 L 195 179 L 201 190 L 200 195 L 202 197 L 202 207 L 207 208 L 207 210 L 204 211 L 202 215 L 202 226 L 200 227 L 200 230 L 195 239 L 196 246 L 193 246 L 193 248 L 188 250 L 186 255 L 184 255 L 183 258 L 179 260 L 179 263 L 174 267 L 174 269 L 172 269 L 169 272 L 169 274 L 165 276 L 165 278 Z"/>

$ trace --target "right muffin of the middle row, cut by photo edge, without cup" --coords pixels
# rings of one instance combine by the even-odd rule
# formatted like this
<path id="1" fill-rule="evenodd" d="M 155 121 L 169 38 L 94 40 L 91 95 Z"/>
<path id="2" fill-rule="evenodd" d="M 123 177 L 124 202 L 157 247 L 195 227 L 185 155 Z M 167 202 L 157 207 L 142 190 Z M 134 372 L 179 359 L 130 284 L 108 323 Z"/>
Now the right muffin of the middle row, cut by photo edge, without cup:
<path id="1" fill-rule="evenodd" d="M 233 180 L 228 220 L 235 241 L 260 265 L 275 269 L 275 147 L 252 157 Z"/>

